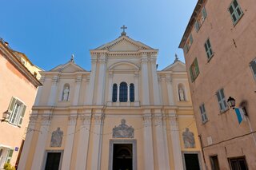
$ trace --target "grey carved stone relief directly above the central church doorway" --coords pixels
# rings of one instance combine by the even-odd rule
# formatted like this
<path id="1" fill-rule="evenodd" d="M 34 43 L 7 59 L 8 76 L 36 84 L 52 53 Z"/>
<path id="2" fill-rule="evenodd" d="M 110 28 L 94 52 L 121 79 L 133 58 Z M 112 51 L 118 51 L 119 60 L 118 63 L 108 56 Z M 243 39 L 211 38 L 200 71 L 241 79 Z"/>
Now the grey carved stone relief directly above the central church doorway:
<path id="1" fill-rule="evenodd" d="M 114 126 L 113 138 L 134 138 L 134 128 L 126 125 L 126 120 L 121 120 L 121 125 Z"/>

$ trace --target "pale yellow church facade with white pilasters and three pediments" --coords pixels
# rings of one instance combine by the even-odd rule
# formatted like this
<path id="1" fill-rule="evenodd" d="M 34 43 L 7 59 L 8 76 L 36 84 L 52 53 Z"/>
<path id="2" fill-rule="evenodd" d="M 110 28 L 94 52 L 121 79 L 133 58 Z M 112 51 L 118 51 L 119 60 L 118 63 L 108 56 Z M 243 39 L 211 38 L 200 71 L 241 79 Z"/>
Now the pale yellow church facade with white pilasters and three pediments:
<path id="1" fill-rule="evenodd" d="M 42 72 L 18 169 L 202 167 L 186 66 L 122 35 Z"/>

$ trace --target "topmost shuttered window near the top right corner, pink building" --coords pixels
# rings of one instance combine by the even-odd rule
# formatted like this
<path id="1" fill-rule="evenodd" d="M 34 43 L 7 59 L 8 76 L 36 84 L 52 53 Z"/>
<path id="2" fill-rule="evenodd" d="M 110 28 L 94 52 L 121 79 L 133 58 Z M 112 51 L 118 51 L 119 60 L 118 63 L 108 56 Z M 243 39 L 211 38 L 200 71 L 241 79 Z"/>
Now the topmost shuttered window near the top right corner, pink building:
<path id="1" fill-rule="evenodd" d="M 235 25 L 238 20 L 242 17 L 242 9 L 238 4 L 237 0 L 234 0 L 231 2 L 230 7 L 229 7 L 230 15 L 233 21 L 233 24 Z"/>

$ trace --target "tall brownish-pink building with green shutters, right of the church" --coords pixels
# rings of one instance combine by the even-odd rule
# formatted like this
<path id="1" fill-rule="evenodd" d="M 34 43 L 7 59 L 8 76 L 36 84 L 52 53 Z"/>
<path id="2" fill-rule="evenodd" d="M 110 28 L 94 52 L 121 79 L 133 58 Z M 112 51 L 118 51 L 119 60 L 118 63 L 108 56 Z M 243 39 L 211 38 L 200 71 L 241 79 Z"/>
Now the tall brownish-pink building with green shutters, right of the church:
<path id="1" fill-rule="evenodd" d="M 254 0 L 198 1 L 179 45 L 208 169 L 256 169 L 255 11 Z"/>

